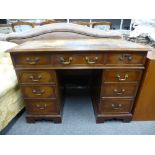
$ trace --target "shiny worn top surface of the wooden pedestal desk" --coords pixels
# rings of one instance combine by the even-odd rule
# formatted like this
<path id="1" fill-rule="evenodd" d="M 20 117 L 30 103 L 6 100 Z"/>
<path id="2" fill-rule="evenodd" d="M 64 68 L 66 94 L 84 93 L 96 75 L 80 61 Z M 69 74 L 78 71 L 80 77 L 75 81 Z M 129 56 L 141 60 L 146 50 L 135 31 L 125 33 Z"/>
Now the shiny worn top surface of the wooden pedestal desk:
<path id="1" fill-rule="evenodd" d="M 8 52 L 47 51 L 148 51 L 149 48 L 123 39 L 59 39 L 28 41 Z"/>

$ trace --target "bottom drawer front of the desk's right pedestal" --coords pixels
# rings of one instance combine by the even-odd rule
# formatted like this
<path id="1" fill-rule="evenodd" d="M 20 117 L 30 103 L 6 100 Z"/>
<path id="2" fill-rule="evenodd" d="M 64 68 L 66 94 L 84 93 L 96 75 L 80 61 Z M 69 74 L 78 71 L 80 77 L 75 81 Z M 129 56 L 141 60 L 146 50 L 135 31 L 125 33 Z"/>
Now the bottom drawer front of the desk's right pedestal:
<path id="1" fill-rule="evenodd" d="M 99 104 L 99 111 L 103 114 L 108 113 L 130 113 L 133 100 L 127 99 L 105 99 Z"/>

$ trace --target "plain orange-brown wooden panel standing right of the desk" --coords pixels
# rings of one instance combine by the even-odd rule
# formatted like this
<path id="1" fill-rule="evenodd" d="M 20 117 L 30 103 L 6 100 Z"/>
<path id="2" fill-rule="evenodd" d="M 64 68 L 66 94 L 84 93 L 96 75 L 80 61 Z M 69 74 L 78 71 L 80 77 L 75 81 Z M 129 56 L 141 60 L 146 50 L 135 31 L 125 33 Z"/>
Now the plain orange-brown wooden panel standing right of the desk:
<path id="1" fill-rule="evenodd" d="M 143 77 L 140 93 L 138 95 L 133 120 L 155 120 L 155 60 L 147 59 L 147 70 Z"/>

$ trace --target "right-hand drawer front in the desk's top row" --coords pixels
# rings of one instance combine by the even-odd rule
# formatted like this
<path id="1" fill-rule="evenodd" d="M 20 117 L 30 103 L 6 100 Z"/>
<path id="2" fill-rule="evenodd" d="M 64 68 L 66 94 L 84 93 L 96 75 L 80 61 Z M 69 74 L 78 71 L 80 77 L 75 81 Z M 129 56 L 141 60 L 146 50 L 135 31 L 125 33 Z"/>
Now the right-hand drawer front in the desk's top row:
<path id="1" fill-rule="evenodd" d="M 107 54 L 106 65 L 144 65 L 145 54 L 120 53 Z"/>

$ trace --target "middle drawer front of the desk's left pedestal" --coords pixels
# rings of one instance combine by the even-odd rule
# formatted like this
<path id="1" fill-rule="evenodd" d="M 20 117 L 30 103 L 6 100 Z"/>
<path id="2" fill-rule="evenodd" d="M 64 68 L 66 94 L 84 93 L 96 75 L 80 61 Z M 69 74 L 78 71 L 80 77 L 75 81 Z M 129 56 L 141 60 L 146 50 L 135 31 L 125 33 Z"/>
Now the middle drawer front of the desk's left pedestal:
<path id="1" fill-rule="evenodd" d="M 54 98 L 56 87 L 54 86 L 21 86 L 24 98 Z"/>

